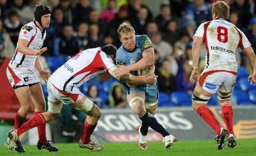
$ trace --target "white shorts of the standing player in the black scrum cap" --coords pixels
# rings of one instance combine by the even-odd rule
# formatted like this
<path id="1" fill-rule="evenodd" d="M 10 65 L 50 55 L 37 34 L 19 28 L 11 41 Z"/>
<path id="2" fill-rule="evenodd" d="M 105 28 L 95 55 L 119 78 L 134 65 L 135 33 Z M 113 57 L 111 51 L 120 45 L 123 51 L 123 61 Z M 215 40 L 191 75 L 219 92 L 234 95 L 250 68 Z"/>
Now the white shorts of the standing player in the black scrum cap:
<path id="1" fill-rule="evenodd" d="M 9 63 L 6 68 L 6 75 L 13 86 L 29 86 L 29 84 L 35 84 L 40 82 L 38 75 L 36 74 L 36 69 L 27 69 L 22 66 L 16 67 L 17 65 Z"/>

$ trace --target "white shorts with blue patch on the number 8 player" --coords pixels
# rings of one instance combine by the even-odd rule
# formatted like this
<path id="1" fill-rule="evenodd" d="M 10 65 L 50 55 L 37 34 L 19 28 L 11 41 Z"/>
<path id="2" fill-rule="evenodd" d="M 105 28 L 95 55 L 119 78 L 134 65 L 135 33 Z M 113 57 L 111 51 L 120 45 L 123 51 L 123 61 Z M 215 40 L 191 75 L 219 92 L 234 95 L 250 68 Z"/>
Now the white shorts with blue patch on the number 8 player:
<path id="1" fill-rule="evenodd" d="M 218 90 L 223 93 L 228 93 L 236 83 L 236 75 L 236 72 L 227 70 L 203 72 L 200 75 L 197 85 L 212 94 L 216 93 Z"/>

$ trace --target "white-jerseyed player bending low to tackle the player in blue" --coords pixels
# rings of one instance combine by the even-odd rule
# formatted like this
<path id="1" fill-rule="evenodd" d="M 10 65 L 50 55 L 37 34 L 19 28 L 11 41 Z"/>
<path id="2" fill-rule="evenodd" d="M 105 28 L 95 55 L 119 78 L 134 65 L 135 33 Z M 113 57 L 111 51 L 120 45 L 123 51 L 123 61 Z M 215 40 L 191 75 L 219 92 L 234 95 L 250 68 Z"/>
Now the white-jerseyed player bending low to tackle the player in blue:
<path id="1" fill-rule="evenodd" d="M 90 138 L 100 118 L 99 107 L 93 104 L 89 98 L 86 98 L 79 91 L 78 87 L 96 75 L 103 81 L 107 81 L 113 76 L 115 77 L 113 72 L 117 68 L 113 62 L 115 54 L 116 47 L 114 45 L 105 45 L 102 49 L 100 47 L 86 49 L 77 53 L 76 56 L 58 68 L 49 77 L 47 82 L 47 91 L 49 93 L 48 111 L 46 113 L 36 114 L 19 129 L 10 130 L 7 141 L 8 147 L 10 149 L 15 148 L 15 141 L 26 130 L 58 118 L 64 103 L 82 111 L 87 116 L 84 121 L 83 136 L 79 140 L 80 148 L 87 148 L 92 151 L 103 150 L 104 146 L 102 144 L 97 144 Z M 155 84 L 156 77 L 156 75 L 134 76 L 132 74 L 126 74 L 116 78 L 119 81 L 132 85 L 138 83 Z"/>

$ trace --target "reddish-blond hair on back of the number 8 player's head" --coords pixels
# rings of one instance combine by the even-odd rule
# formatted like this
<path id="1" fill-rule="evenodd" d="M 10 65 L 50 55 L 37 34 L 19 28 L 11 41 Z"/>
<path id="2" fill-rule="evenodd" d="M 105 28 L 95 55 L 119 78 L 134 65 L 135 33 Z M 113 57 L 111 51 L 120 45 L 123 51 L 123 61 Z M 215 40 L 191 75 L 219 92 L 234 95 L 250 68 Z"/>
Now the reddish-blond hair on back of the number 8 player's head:
<path id="1" fill-rule="evenodd" d="M 228 19 L 230 7 L 224 1 L 217 1 L 212 4 L 212 15 L 216 13 L 219 18 Z"/>

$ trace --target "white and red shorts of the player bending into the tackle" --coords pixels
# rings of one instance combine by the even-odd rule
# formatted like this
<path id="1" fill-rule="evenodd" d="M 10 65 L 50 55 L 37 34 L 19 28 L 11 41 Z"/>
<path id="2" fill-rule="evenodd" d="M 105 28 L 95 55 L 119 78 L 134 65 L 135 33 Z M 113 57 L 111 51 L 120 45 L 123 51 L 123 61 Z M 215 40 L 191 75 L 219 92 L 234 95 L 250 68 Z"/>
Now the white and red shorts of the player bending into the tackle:
<path id="1" fill-rule="evenodd" d="M 47 82 L 48 100 L 51 102 L 61 101 L 63 104 L 74 104 L 83 98 L 83 93 L 74 87 L 72 91 L 62 91 L 54 86 L 51 82 L 51 77 Z"/>

